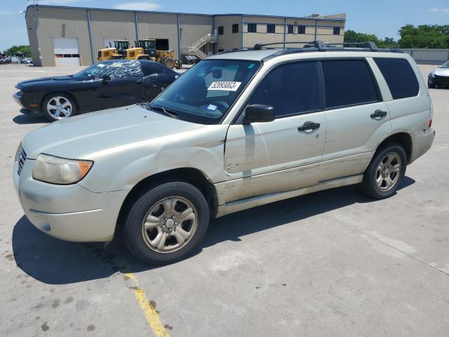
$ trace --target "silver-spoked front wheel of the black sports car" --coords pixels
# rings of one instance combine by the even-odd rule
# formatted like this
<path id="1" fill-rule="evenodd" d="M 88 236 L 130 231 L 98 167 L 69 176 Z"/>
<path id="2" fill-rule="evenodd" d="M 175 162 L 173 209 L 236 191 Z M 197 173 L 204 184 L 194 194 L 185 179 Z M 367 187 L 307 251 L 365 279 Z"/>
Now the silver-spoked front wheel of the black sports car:
<path id="1" fill-rule="evenodd" d="M 58 104 L 60 110 L 58 110 Z M 51 106 L 54 108 L 52 109 Z M 42 103 L 42 112 L 49 121 L 59 121 L 76 114 L 75 100 L 67 93 L 49 93 Z"/>

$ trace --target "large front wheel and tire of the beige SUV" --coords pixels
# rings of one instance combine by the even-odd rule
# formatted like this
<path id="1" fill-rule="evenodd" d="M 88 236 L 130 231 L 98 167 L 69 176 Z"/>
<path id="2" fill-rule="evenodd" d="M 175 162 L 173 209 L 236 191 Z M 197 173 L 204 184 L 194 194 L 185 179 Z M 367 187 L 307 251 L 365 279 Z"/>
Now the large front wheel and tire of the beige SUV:
<path id="1" fill-rule="evenodd" d="M 164 183 L 143 194 L 131 207 L 124 227 L 126 246 L 146 263 L 173 263 L 200 244 L 208 223 L 208 203 L 196 187 Z"/>

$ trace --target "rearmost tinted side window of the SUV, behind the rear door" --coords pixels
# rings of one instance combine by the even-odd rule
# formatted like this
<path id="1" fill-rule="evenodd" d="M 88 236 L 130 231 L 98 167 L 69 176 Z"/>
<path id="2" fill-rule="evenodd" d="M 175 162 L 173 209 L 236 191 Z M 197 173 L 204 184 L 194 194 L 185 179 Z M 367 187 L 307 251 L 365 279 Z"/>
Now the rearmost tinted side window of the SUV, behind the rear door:
<path id="1" fill-rule="evenodd" d="M 414 97 L 420 92 L 415 72 L 404 58 L 375 58 L 377 67 L 387 81 L 394 100 Z"/>

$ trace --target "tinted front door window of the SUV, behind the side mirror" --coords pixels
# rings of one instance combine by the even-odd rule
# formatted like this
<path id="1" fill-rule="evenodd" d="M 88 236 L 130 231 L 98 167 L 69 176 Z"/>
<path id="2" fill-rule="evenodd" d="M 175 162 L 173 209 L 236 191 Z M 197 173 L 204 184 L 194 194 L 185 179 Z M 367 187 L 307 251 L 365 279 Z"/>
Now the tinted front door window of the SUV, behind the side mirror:
<path id="1" fill-rule="evenodd" d="M 320 110 L 323 95 L 319 74 L 318 62 L 280 65 L 262 79 L 249 104 L 271 105 L 276 117 Z"/>

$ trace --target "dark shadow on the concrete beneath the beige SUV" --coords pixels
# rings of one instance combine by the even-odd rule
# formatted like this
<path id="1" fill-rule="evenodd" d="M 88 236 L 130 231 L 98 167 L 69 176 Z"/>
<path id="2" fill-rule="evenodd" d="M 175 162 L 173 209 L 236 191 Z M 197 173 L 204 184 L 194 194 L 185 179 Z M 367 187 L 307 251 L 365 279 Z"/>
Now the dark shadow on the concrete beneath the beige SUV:
<path id="1" fill-rule="evenodd" d="M 399 190 L 413 183 L 415 180 L 406 177 Z M 359 193 L 356 186 L 347 186 L 233 213 L 211 221 L 203 243 L 192 255 L 220 242 L 239 242 L 248 234 L 368 202 L 373 199 Z M 37 230 L 22 216 L 13 230 L 13 254 L 20 269 L 46 284 L 72 284 L 102 279 L 116 272 L 141 272 L 159 267 L 134 258 L 120 237 L 105 249 L 102 243 L 65 242 Z"/>

